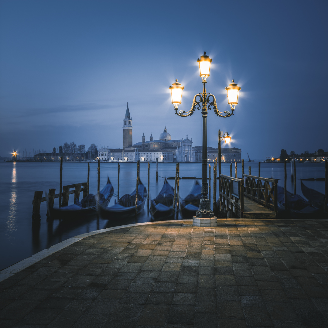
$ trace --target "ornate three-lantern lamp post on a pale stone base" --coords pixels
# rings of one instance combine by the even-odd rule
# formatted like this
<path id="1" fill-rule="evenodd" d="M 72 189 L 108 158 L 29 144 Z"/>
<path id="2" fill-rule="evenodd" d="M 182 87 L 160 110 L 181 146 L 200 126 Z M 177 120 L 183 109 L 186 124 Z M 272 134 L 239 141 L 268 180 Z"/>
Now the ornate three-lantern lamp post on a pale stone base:
<path id="1" fill-rule="evenodd" d="M 211 93 L 206 92 L 205 84 L 206 79 L 210 76 L 210 68 L 212 59 L 204 54 L 198 58 L 199 64 L 199 76 L 202 78 L 203 83 L 203 92 L 200 92 L 194 96 L 193 105 L 188 112 L 179 111 L 178 106 L 181 104 L 182 91 L 184 87 L 181 83 L 178 83 L 178 80 L 175 80 L 175 83 L 170 86 L 172 104 L 174 105 L 175 114 L 178 116 L 186 117 L 190 116 L 195 112 L 195 109 L 202 110 L 203 117 L 203 150 L 202 150 L 202 197 L 200 199 L 199 209 L 196 211 L 196 216 L 193 218 L 193 224 L 195 226 L 216 226 L 217 219 L 214 216 L 213 211 L 211 210 L 210 200 L 208 199 L 208 183 L 207 183 L 207 111 L 214 110 L 214 113 L 220 117 L 229 117 L 234 115 L 235 107 L 238 104 L 238 93 L 240 87 L 237 86 L 234 80 L 232 83 L 226 87 L 228 104 L 231 107 L 230 111 L 220 112 L 216 106 L 215 96 Z M 198 100 L 197 101 L 197 97 Z M 210 101 L 211 100 L 211 101 Z"/>

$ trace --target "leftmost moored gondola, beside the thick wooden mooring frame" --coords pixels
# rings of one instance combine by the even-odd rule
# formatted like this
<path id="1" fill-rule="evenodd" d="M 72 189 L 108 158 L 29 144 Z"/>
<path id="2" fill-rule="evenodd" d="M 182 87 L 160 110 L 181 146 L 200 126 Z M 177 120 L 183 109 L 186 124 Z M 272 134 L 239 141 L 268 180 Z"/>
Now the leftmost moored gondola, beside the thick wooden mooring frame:
<path id="1" fill-rule="evenodd" d="M 107 184 L 99 193 L 99 205 L 107 205 L 114 194 L 114 187 L 107 177 Z M 47 202 L 48 205 L 48 202 Z M 73 220 L 85 216 L 97 214 L 97 199 L 93 194 L 89 194 L 82 198 L 79 202 L 76 198 L 74 199 L 74 204 L 63 206 L 60 208 L 49 208 L 48 213 L 50 213 L 51 219 L 59 220 Z"/>

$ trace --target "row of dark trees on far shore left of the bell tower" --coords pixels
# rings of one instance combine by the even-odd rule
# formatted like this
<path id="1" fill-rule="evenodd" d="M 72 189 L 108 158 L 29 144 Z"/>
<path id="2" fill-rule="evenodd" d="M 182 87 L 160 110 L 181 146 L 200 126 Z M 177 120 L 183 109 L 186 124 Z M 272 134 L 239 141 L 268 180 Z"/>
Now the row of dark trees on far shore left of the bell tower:
<path id="1" fill-rule="evenodd" d="M 85 159 L 85 160 L 90 160 L 90 159 L 95 159 L 98 157 L 98 150 L 97 146 L 92 143 L 88 150 L 86 151 L 85 145 L 76 145 L 74 141 L 68 143 L 65 142 L 64 145 L 60 145 L 58 147 L 58 151 L 56 151 L 56 147 L 53 147 L 52 149 L 52 154 L 59 154 L 59 156 L 76 156 L 79 159 Z"/>

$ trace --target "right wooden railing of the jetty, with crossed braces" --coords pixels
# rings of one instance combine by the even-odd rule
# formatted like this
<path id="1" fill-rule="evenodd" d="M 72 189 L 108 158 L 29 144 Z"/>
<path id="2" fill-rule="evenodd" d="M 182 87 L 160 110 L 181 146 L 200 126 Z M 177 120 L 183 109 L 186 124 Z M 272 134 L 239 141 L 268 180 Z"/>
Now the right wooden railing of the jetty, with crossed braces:
<path id="1" fill-rule="evenodd" d="M 244 195 L 247 198 L 269 208 L 273 212 L 278 211 L 277 185 L 278 180 L 262 178 L 259 176 L 243 174 Z M 271 184 L 271 185 L 270 185 Z"/>

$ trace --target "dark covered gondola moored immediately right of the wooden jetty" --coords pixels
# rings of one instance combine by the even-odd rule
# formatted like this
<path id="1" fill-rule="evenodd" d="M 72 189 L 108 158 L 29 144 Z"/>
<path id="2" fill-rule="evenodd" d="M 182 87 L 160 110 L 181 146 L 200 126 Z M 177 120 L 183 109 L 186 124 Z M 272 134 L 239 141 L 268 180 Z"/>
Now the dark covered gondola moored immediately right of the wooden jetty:
<path id="1" fill-rule="evenodd" d="M 278 210 L 280 212 L 285 212 L 285 195 L 284 188 L 277 186 L 278 191 Z M 304 199 L 300 195 L 293 195 L 287 190 L 287 207 L 291 216 L 295 218 L 306 218 L 312 214 L 316 214 L 319 212 L 317 207 L 311 205 L 309 201 Z"/>

